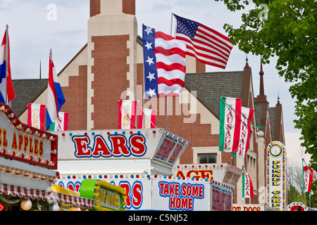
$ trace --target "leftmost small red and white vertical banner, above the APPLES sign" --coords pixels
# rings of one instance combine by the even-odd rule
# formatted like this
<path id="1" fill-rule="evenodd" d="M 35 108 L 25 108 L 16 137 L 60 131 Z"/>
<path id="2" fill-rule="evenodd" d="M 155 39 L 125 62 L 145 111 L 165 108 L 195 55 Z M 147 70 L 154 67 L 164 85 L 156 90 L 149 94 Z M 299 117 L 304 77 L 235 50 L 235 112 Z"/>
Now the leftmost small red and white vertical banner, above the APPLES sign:
<path id="1" fill-rule="evenodd" d="M 27 125 L 44 130 L 44 117 L 46 105 L 27 104 Z"/>

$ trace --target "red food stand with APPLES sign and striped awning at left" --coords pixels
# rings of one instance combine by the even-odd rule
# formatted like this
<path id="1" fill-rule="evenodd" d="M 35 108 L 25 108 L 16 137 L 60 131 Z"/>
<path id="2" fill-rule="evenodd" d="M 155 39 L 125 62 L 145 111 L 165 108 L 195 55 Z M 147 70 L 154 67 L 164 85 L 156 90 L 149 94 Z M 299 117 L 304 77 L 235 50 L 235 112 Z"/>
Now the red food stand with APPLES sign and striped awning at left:
<path id="1" fill-rule="evenodd" d="M 54 203 L 94 201 L 51 191 L 58 177 L 58 136 L 20 122 L 0 103 L 0 210 L 51 210 Z"/>

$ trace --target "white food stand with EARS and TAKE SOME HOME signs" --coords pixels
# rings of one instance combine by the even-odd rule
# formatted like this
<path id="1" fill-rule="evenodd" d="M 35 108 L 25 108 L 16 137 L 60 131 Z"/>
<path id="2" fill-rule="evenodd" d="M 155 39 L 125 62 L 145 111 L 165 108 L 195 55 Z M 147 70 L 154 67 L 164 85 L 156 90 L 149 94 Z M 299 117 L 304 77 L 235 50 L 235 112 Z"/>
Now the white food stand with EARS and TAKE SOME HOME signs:
<path id="1" fill-rule="evenodd" d="M 116 203 L 123 208 L 117 204 L 106 210 L 232 210 L 233 190 L 242 170 L 227 163 L 197 165 L 212 170 L 214 176 L 207 176 L 208 172 L 202 172 L 204 177 L 176 176 L 175 162 L 190 143 L 165 129 L 53 133 L 60 150 L 55 184 L 95 201 L 92 193 L 82 194 L 87 181 L 93 184 L 90 188 L 97 181 L 118 186 L 123 198 L 118 192 L 111 195 L 120 199 Z"/>

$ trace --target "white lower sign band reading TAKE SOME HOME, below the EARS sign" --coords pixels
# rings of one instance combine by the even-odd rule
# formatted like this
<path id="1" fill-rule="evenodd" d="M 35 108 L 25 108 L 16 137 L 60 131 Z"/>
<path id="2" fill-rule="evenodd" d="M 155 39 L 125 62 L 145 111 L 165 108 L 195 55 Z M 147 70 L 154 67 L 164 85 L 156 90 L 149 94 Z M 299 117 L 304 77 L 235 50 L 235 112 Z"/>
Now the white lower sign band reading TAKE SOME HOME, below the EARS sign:
<path id="1" fill-rule="evenodd" d="M 126 210 L 230 211 L 233 189 L 222 184 L 167 176 L 112 176 L 104 181 L 125 188 Z M 98 177 L 97 177 L 98 178 Z M 56 185 L 80 192 L 85 176 L 61 175 Z M 92 177 L 94 179 L 94 177 Z"/>

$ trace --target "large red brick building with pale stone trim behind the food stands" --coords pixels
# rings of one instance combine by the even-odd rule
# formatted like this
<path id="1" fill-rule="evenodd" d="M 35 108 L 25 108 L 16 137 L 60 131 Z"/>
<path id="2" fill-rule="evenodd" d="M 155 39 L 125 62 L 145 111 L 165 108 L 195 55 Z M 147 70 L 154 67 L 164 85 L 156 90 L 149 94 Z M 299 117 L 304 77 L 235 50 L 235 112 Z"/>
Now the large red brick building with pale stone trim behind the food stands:
<path id="1" fill-rule="evenodd" d="M 87 44 L 58 73 L 66 98 L 61 111 L 69 113 L 69 130 L 117 129 L 120 98 L 137 100 L 137 106 L 142 106 L 143 51 L 142 38 L 137 35 L 135 0 L 90 0 L 87 26 Z M 278 101 L 275 108 L 269 107 L 262 70 L 261 91 L 254 96 L 247 62 L 233 72 L 206 72 L 205 65 L 190 56 L 186 65 L 182 96 L 169 97 L 168 101 L 147 99 L 145 108 L 158 110 L 156 127 L 167 126 L 168 131 L 191 141 L 178 163 L 244 165 L 254 184 L 251 203 L 259 203 L 258 197 L 265 193 L 261 187 L 266 186 L 266 146 L 273 140 L 285 142 L 282 105 Z M 27 103 L 46 104 L 47 79 L 13 80 L 13 86 L 13 111 L 27 123 Z M 30 86 L 37 89 L 25 95 L 25 87 Z M 251 132 L 244 160 L 218 151 L 220 96 L 242 98 L 242 106 L 255 110 L 252 124 L 263 127 Z M 242 203 L 241 193 L 240 182 L 234 203 Z"/>

